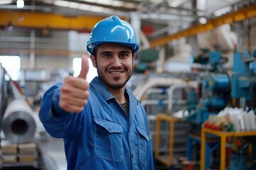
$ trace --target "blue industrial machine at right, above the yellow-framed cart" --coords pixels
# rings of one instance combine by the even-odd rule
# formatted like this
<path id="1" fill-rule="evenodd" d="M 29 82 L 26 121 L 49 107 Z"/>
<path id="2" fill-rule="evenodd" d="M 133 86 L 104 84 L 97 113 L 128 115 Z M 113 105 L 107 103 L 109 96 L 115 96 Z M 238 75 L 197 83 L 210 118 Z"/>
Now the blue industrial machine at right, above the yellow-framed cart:
<path id="1" fill-rule="evenodd" d="M 256 56 L 250 57 L 246 52 L 235 52 L 231 79 L 221 60 L 220 52 L 209 53 L 212 72 L 202 75 L 202 96 L 195 110 L 188 116 L 191 123 L 200 125 L 210 114 L 218 114 L 228 105 L 255 109 Z M 235 103 L 230 103 L 231 98 Z"/>

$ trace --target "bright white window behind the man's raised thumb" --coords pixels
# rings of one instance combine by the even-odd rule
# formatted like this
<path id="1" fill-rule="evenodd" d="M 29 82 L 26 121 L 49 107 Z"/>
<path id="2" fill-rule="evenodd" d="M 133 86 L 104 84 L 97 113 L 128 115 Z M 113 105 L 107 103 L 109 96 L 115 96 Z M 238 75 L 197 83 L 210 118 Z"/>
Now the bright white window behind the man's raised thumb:
<path id="1" fill-rule="evenodd" d="M 88 62 L 89 62 L 89 71 L 87 73 L 86 79 L 90 83 L 90 81 L 92 81 L 92 79 L 97 76 L 97 69 L 93 67 L 92 60 L 90 60 L 90 58 L 88 58 Z M 78 77 L 78 74 L 80 74 L 80 70 L 81 70 L 81 58 L 75 57 L 73 59 L 74 77 Z"/>

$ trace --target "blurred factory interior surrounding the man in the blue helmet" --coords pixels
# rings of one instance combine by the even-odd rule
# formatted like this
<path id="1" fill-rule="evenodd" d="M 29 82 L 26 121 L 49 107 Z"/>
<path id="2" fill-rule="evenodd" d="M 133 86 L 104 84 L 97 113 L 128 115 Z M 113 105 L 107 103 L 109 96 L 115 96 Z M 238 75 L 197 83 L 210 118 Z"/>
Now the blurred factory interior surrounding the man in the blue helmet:
<path id="1" fill-rule="evenodd" d="M 255 170 L 256 0 L 1 0 L 0 169 L 67 169 L 41 98 L 78 76 L 90 31 L 113 15 L 137 32 L 127 88 L 147 113 L 154 169 Z"/>

